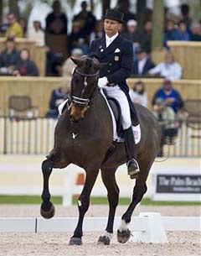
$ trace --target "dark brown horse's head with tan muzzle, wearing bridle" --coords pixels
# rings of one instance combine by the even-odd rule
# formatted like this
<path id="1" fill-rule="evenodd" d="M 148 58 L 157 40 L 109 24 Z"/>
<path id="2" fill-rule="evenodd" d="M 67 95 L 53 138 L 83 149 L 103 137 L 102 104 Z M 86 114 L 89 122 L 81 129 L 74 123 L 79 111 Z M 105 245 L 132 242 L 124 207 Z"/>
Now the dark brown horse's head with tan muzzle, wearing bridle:
<path id="1" fill-rule="evenodd" d="M 85 111 L 89 107 L 99 79 L 101 64 L 94 57 L 82 56 L 80 59 L 71 58 L 76 68 L 71 81 L 72 106 L 70 118 L 78 121 L 84 118 Z"/>

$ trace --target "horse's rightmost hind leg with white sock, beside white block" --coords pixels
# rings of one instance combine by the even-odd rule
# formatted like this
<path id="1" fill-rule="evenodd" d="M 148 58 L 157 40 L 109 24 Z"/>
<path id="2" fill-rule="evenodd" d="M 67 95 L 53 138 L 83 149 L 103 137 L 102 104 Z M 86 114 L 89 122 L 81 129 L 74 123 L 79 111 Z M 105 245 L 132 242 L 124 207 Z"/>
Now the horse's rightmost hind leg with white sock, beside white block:
<path id="1" fill-rule="evenodd" d="M 152 165 L 140 165 L 141 173 L 136 180 L 136 185 L 133 190 L 131 204 L 126 212 L 121 217 L 121 226 L 117 230 L 117 240 L 119 243 L 126 243 L 131 237 L 131 232 L 127 224 L 131 222 L 131 215 L 137 204 L 142 201 L 142 197 L 147 192 L 147 175 Z"/>

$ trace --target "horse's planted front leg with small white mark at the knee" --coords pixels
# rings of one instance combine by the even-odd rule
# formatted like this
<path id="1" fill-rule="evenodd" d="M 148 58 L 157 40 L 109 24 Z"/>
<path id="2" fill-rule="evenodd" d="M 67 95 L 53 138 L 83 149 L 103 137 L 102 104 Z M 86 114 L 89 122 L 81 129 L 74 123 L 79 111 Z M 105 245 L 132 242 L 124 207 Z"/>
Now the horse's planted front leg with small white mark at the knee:
<path id="1" fill-rule="evenodd" d="M 75 228 L 74 235 L 72 238 L 70 238 L 70 244 L 76 244 L 76 245 L 82 244 L 83 220 L 85 217 L 85 212 L 87 212 L 90 205 L 90 192 L 95 184 L 95 180 L 97 178 L 98 172 L 99 172 L 99 169 L 86 171 L 85 185 L 78 199 L 79 220 L 77 223 L 77 227 Z"/>

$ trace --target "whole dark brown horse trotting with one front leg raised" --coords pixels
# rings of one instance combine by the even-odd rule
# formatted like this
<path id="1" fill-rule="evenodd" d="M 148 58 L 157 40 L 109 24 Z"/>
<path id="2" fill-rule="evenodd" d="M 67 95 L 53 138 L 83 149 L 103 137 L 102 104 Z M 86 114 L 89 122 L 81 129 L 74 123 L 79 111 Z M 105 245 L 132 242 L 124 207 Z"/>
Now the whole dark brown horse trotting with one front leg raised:
<path id="1" fill-rule="evenodd" d="M 59 117 L 54 130 L 54 149 L 42 163 L 44 188 L 40 213 L 44 218 L 54 217 L 54 204 L 50 201 L 49 176 L 53 168 L 64 168 L 70 164 L 85 170 L 85 184 L 78 199 L 79 219 L 70 244 L 82 244 L 83 221 L 90 204 L 90 192 L 101 170 L 101 178 L 106 186 L 109 201 L 109 216 L 106 231 L 98 243 L 111 243 L 116 206 L 119 201 L 119 188 L 116 184 L 116 170 L 126 163 L 125 144 L 112 142 L 111 112 L 105 98 L 97 86 L 102 66 L 93 56 L 72 58 L 76 67 L 71 79 L 71 103 Z M 127 225 L 131 215 L 142 201 L 147 191 L 147 175 L 156 158 L 161 142 L 161 128 L 157 119 L 146 107 L 136 104 L 142 138 L 137 144 L 137 161 L 140 173 L 132 191 L 131 204 L 121 217 L 117 230 L 119 243 L 126 243 L 131 231 Z M 111 154 L 111 147 L 115 148 Z"/>

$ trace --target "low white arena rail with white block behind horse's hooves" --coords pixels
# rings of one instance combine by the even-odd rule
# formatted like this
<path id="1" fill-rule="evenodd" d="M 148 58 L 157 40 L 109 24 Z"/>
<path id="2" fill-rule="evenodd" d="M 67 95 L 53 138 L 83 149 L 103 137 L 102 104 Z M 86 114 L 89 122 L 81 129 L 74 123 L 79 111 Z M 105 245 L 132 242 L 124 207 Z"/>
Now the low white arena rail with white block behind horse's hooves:
<path id="1" fill-rule="evenodd" d="M 44 218 L 0 218 L 0 232 L 74 232 L 77 217 Z M 103 232 L 106 228 L 106 217 L 85 217 L 84 232 Z M 114 230 L 121 223 L 116 217 Z M 201 217 L 161 217 L 157 212 L 142 212 L 139 217 L 132 217 L 129 228 L 131 242 L 168 243 L 166 231 L 201 232 Z"/>

